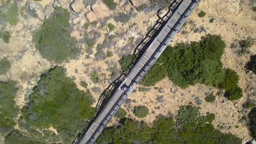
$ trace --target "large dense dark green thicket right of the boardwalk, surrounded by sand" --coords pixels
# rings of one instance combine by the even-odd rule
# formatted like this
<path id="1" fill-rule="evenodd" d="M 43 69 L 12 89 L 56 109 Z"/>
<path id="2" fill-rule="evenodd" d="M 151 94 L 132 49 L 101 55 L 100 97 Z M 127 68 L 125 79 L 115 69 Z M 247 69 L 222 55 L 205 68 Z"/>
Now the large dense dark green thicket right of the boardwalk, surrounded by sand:
<path id="1" fill-rule="evenodd" d="M 167 75 L 175 85 L 182 88 L 204 83 L 225 89 L 225 97 L 229 100 L 240 99 L 242 89 L 238 87 L 238 75 L 233 70 L 222 68 L 220 59 L 224 48 L 225 43 L 219 35 L 206 35 L 201 41 L 190 45 L 180 43 L 169 46 L 154 65 L 155 68 L 144 77 L 142 85 L 153 86 Z"/>

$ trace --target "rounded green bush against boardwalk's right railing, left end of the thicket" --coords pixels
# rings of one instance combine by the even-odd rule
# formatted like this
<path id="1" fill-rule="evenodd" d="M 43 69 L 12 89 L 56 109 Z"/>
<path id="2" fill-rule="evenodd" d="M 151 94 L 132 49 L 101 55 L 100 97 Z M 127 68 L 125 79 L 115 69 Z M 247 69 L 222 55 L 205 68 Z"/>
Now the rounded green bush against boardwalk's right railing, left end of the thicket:
<path id="1" fill-rule="evenodd" d="M 164 65 L 155 64 L 153 67 L 149 70 L 148 74 L 142 79 L 141 85 L 143 86 L 154 86 L 156 82 L 161 81 L 162 79 L 165 79 L 167 76 L 167 69 L 164 67 Z"/>

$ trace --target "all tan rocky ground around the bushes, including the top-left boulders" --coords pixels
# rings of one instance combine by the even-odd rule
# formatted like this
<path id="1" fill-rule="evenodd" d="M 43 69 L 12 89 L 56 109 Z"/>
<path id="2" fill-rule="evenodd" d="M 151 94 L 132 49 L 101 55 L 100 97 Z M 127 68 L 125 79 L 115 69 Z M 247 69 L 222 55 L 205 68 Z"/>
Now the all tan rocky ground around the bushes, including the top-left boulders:
<path id="1" fill-rule="evenodd" d="M 11 33 L 9 44 L 5 44 L 0 39 L 0 59 L 7 56 L 11 62 L 11 69 L 6 75 L 0 76 L 0 80 L 18 81 L 19 91 L 16 103 L 20 107 L 25 105 L 26 97 L 32 92 L 39 75 L 56 65 L 40 56 L 32 43 L 32 34 L 43 24 L 44 19 L 51 15 L 57 5 L 69 9 L 71 13 L 70 22 L 73 27 L 71 35 L 80 42 L 82 47 L 82 53 L 78 58 L 59 65 L 67 68 L 68 76 L 74 77 L 80 89 L 84 89 L 80 86 L 82 80 L 88 82 L 90 89 L 96 89 L 92 91 L 96 103 L 101 92 L 113 80 L 110 79 L 110 71 L 107 69 L 115 67 L 120 70 L 118 65 L 120 57 L 131 54 L 139 41 L 145 37 L 148 28 L 158 20 L 156 9 L 137 11 L 136 8 L 149 3 L 147 0 L 131 0 L 132 3 L 127 0 L 115 1 L 118 3 L 118 8 L 114 11 L 109 10 L 102 1 L 44 0 L 34 2 L 23 0 L 17 2 L 20 9 L 25 9 L 24 13 L 19 12 L 18 25 L 10 26 L 8 23 L 6 26 L 0 25 L 2 30 Z M 4 0 L 0 0 L 0 6 L 3 4 Z M 187 26 L 171 43 L 171 45 L 174 45 L 179 42 L 198 41 L 205 34 L 222 35 L 227 45 L 222 62 L 225 68 L 235 70 L 240 76 L 239 85 L 243 89 L 243 98 L 231 102 L 220 95 L 214 103 L 207 103 L 205 101 L 206 94 L 217 93 L 218 89 L 200 84 L 181 89 L 173 85 L 170 80 L 165 79 L 154 87 L 150 87 L 148 92 L 136 92 L 129 97 L 130 100 L 123 105 L 124 109 L 129 112 L 129 116 L 139 121 L 152 123 L 155 116 L 161 114 L 175 117 L 180 106 L 196 105 L 196 100 L 200 99 L 202 100 L 202 104 L 199 105 L 202 115 L 207 112 L 216 115 L 213 122 L 214 127 L 224 133 L 235 134 L 245 142 L 252 140 L 247 123 L 240 120 L 248 112 L 248 110 L 242 109 L 242 104 L 248 100 L 256 101 L 256 76 L 253 73 L 246 73 L 244 67 L 249 61 L 249 56 L 251 54 L 255 55 L 256 46 L 254 45 L 249 49 L 251 54 L 246 53 L 240 56 L 237 54 L 237 49 L 231 49 L 231 44 L 237 44 L 239 40 L 248 36 L 256 38 L 256 13 L 252 10 L 253 5 L 256 6 L 255 1 L 249 0 L 202 0 L 193 15 L 189 17 Z M 203 18 L 197 16 L 201 10 L 206 12 L 206 16 Z M 115 22 L 114 18 L 120 11 L 131 14 L 131 20 L 127 23 Z M 161 10 L 159 15 L 162 15 L 165 11 Z M 210 23 L 210 19 L 214 19 L 214 22 Z M 86 23 L 94 21 L 97 21 L 97 24 L 90 26 L 88 29 L 84 28 Z M 109 31 L 107 23 L 115 25 L 114 31 Z M 116 35 L 112 41 L 108 42 L 109 48 L 104 50 L 105 52 L 112 52 L 113 57 L 96 61 L 95 49 L 90 54 L 86 53 L 83 38 L 83 36 L 86 37 L 85 32 L 100 33 L 97 43 L 103 43 L 107 33 Z M 129 41 L 131 37 L 135 38 L 133 43 Z M 95 84 L 90 80 L 91 70 L 96 70 L 101 74 L 101 83 Z M 139 119 L 133 115 L 133 107 L 137 105 L 146 105 L 149 108 L 150 113 L 146 118 Z M 116 119 L 113 119 L 109 126 L 115 123 Z M 238 128 L 236 125 L 238 125 Z"/>

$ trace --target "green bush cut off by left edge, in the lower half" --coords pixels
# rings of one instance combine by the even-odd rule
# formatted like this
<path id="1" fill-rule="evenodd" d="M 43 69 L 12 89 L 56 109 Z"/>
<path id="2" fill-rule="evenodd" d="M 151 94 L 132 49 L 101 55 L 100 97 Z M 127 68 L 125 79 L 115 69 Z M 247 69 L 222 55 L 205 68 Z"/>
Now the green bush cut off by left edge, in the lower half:
<path id="1" fill-rule="evenodd" d="M 16 105 L 14 98 L 17 91 L 16 82 L 0 81 L 0 134 L 7 133 L 16 125 L 14 118 L 19 113 L 19 107 Z"/>

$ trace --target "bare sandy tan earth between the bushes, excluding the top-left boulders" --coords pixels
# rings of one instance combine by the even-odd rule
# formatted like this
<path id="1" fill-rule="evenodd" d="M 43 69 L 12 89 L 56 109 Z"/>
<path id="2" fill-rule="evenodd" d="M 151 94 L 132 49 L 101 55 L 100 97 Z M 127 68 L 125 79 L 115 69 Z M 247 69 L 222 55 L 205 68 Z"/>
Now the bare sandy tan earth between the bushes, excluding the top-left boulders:
<path id="1" fill-rule="evenodd" d="M 2 1 L 0 0 L 0 4 L 1 2 Z M 50 0 L 47 0 L 39 3 L 44 8 L 45 5 L 50 2 Z M 70 1 L 63 2 L 66 2 L 66 4 L 71 3 Z M 241 111 L 242 105 L 247 99 L 256 100 L 256 97 L 253 96 L 253 93 L 256 93 L 256 75 L 253 73 L 246 74 L 244 68 L 245 64 L 249 61 L 250 54 L 247 53 L 242 56 L 237 56 L 235 50 L 230 48 L 232 43 L 237 43 L 237 41 L 245 39 L 248 36 L 256 38 L 256 13 L 248 4 L 250 4 L 249 0 L 245 0 L 243 3 L 238 0 L 202 0 L 193 15 L 189 17 L 187 26 L 182 29 L 181 33 L 179 33 L 171 43 L 171 45 L 174 45 L 181 42 L 190 43 L 190 41 L 199 41 L 205 34 L 222 35 L 226 43 L 222 62 L 224 68 L 233 69 L 240 76 L 239 85 L 243 89 L 243 97 L 240 100 L 232 102 L 226 100 L 223 95 L 220 95 L 214 103 L 207 103 L 205 101 L 206 94 L 212 92 L 217 93 L 218 89 L 200 84 L 182 89 L 173 85 L 170 80 L 165 79 L 154 86 L 158 87 L 158 89 L 150 87 L 151 91 L 149 92 L 136 92 L 129 97 L 129 99 L 132 100 L 131 105 L 123 105 L 123 108 L 129 112 L 129 117 L 138 121 L 146 121 L 147 123 L 152 123 L 158 115 L 175 117 L 179 107 L 188 104 L 196 105 L 195 99 L 192 97 L 192 95 L 196 95 L 202 100 L 202 104 L 198 105 L 201 107 L 202 115 L 205 115 L 207 112 L 216 115 L 216 119 L 213 121 L 213 125 L 216 129 L 219 129 L 224 133 L 235 134 L 237 137 L 243 139 L 244 143 L 252 140 L 246 123 L 240 122 L 240 119 L 249 111 Z M 117 11 L 128 9 L 130 7 L 132 6 L 130 5 L 126 8 L 122 7 Z M 203 18 L 197 16 L 197 13 L 201 10 L 206 12 L 206 16 Z M 89 10 L 84 9 L 83 11 Z M 117 13 L 117 11 L 115 11 L 115 13 Z M 82 39 L 81 35 L 84 34 L 83 24 L 85 21 L 88 22 L 88 19 L 85 19 L 84 13 L 85 12 L 78 15 L 79 19 L 82 20 L 80 23 L 71 21 L 74 27 L 72 36 L 77 40 Z M 96 50 L 94 49 L 94 53 L 88 56 L 85 52 L 86 47 L 82 44 L 82 52 L 77 59 L 59 65 L 67 68 L 68 76 L 75 78 L 75 83 L 77 83 L 78 88 L 85 90 L 85 88 L 79 84 L 80 81 L 84 80 L 89 84 L 89 89 L 100 87 L 102 92 L 109 85 L 107 79 L 109 79 L 110 72 L 107 71 L 107 68 L 111 66 L 120 69 L 118 65 L 118 60 L 121 56 L 119 50 L 120 47 L 129 45 L 126 49 L 127 51 L 122 54 L 128 55 L 132 53 L 133 49 L 131 49 L 131 44 L 128 39 L 131 36 L 135 37 L 135 41 L 139 41 L 139 39 L 143 38 L 147 33 L 148 27 L 153 26 L 156 20 L 158 20 L 156 13 L 156 11 L 147 14 L 138 12 L 137 15 L 132 17 L 126 24 L 117 23 L 113 18 L 107 20 L 107 23 L 113 23 L 115 25 L 115 30 L 110 33 L 121 35 L 121 37 L 116 37 L 114 39 L 116 43 L 111 49 L 105 50 L 106 52 L 112 51 L 114 54 L 113 57 L 107 58 L 104 61 L 95 61 L 93 58 Z M 215 19 L 213 23 L 209 22 L 211 18 Z M 19 91 L 15 100 L 16 104 L 20 107 L 25 105 L 27 96 L 32 92 L 31 89 L 39 80 L 39 75 L 56 65 L 42 58 L 32 43 L 31 31 L 40 27 L 42 23 L 42 20 L 33 17 L 28 17 L 27 20 L 25 20 L 20 16 L 17 26 L 11 27 L 9 24 L 7 25 L 7 30 L 11 33 L 10 43 L 5 44 L 2 39 L 0 39 L 0 59 L 7 56 L 11 62 L 11 69 L 6 75 L 0 76 L 0 80 L 18 81 Z M 100 27 L 100 22 L 97 23 L 97 26 Z M 2 26 L 0 25 L 0 27 Z M 27 27 L 30 27 L 30 29 Z M 205 28 L 204 32 L 194 32 L 196 28 L 201 29 L 201 27 Z M 102 43 L 104 34 L 108 33 L 107 27 L 103 29 L 98 29 L 97 27 L 93 28 L 101 33 L 101 38 L 97 43 Z M 249 51 L 251 54 L 255 55 L 256 45 L 254 44 Z M 102 74 L 101 78 L 103 81 L 101 83 L 92 83 L 90 80 L 91 70 L 97 70 Z M 78 72 L 76 73 L 75 71 Z M 106 76 L 103 74 L 106 74 Z M 161 91 L 159 91 L 159 89 L 161 89 Z M 92 92 L 96 100 L 94 106 L 96 105 L 101 92 Z M 156 98 L 161 95 L 164 97 L 164 101 L 160 103 Z M 133 115 L 133 107 L 137 105 L 146 105 L 149 108 L 149 115 L 146 118 L 137 118 Z M 117 124 L 117 119 L 112 119 L 108 126 L 115 124 Z M 235 128 L 236 125 L 238 125 L 238 128 Z M 18 129 L 18 125 L 15 128 Z M 51 127 L 50 130 L 56 131 L 53 127 Z"/>

